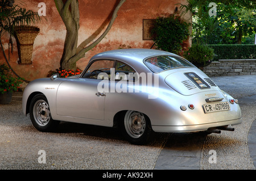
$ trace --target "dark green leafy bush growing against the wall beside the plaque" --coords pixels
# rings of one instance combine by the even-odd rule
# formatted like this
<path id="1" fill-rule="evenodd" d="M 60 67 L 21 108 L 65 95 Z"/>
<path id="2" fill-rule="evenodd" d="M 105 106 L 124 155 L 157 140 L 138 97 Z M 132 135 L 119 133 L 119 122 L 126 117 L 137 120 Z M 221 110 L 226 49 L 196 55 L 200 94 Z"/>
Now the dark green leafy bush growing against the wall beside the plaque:
<path id="1" fill-rule="evenodd" d="M 158 49 L 179 54 L 181 44 L 188 39 L 188 24 L 182 22 L 180 16 L 159 17 L 155 20 L 151 33 Z"/>

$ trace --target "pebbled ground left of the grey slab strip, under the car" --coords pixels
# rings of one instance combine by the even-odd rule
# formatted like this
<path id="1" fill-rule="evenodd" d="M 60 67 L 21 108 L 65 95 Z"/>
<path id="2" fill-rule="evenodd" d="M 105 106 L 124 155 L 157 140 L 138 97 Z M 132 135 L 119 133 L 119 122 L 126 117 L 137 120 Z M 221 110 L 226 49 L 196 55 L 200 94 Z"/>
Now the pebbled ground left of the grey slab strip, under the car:
<path id="1" fill-rule="evenodd" d="M 15 97 L 16 96 L 16 97 Z M 20 95 L 1 105 L 0 169 L 154 169 L 167 134 L 131 145 L 116 129 L 61 123 L 56 133 L 37 131 L 22 114 Z M 46 163 L 39 163 L 39 150 Z"/>

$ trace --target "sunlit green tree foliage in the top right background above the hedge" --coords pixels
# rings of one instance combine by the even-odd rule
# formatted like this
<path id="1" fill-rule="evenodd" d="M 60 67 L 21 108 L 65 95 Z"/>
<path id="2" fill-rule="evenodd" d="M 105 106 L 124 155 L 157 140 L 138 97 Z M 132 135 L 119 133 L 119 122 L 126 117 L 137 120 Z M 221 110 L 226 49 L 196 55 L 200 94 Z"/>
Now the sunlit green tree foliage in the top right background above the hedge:
<path id="1" fill-rule="evenodd" d="M 209 16 L 209 3 L 216 3 L 217 16 Z M 256 33 L 255 0 L 187 0 L 181 14 L 192 18 L 192 42 L 201 44 L 253 44 Z"/>

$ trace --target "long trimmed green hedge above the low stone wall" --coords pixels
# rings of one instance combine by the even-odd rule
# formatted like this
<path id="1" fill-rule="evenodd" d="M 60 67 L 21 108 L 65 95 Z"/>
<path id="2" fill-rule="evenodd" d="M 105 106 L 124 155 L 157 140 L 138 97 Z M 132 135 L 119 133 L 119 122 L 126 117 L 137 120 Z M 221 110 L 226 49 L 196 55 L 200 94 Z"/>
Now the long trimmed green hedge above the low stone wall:
<path id="1" fill-rule="evenodd" d="M 251 59 L 256 58 L 256 45 L 208 45 L 214 49 L 214 61 L 220 59 Z"/>

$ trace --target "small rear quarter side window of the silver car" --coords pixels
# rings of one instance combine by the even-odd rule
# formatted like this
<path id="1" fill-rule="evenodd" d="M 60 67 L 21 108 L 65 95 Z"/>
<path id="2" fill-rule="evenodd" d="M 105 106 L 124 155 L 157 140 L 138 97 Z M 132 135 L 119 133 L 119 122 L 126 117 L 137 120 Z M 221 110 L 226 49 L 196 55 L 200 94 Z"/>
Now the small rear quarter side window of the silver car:
<path id="1" fill-rule="evenodd" d="M 133 81 L 136 71 L 123 62 L 115 62 L 115 80 Z"/>

